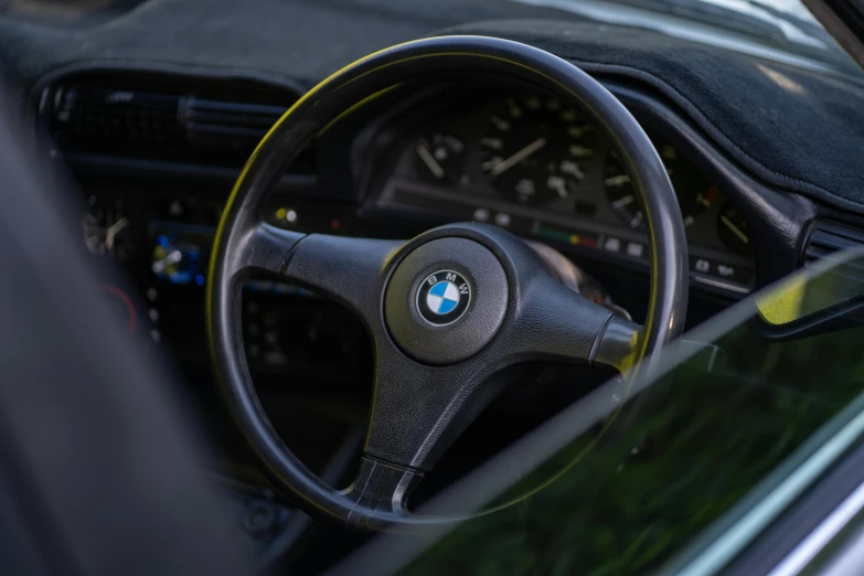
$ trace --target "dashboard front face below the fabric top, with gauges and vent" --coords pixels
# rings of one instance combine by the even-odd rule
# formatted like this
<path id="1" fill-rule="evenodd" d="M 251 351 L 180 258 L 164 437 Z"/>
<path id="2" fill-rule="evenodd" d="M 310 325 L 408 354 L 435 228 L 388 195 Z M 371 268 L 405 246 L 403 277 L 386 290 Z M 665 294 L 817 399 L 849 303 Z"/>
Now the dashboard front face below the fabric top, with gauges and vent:
<path id="1" fill-rule="evenodd" d="M 216 226 L 258 139 L 296 95 L 266 85 L 83 74 L 46 85 L 46 146 L 84 191 L 82 239 L 132 286 L 107 287 L 130 331 L 209 380 L 203 308 Z M 675 132 L 650 127 L 682 209 L 691 326 L 756 285 L 748 220 Z M 307 233 L 409 238 L 448 222 L 494 224 L 547 244 L 643 318 L 649 243 L 630 177 L 575 110 L 521 84 L 404 86 L 319 136 L 263 217 Z M 136 306 L 132 306 L 137 302 Z M 372 371 L 346 310 L 299 287 L 250 278 L 244 345 L 258 382 L 350 390 Z M 366 375 L 366 376 L 364 376 Z"/>

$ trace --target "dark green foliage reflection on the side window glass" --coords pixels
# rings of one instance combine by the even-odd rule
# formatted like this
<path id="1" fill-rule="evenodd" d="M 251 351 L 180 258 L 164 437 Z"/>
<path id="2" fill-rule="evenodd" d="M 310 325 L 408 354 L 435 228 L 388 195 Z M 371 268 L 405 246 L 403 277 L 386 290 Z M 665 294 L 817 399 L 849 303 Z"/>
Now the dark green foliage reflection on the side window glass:
<path id="1" fill-rule="evenodd" d="M 856 297 L 862 265 L 860 256 L 847 257 L 781 289 L 799 290 L 797 310 L 807 316 Z M 813 435 L 851 418 L 857 408 L 850 406 L 864 392 L 860 324 L 778 342 L 755 329 L 750 320 L 761 308 L 754 303 L 744 301 L 687 335 L 722 349 L 724 362 L 706 369 L 698 356 L 686 360 L 683 348 L 670 348 L 665 361 L 673 367 L 662 377 L 504 493 L 488 494 L 486 508 L 515 503 L 451 525 L 401 563 L 404 572 L 644 574 L 687 546 L 693 553 L 697 536 L 721 519 L 723 530 L 732 530 L 736 515 L 753 510 L 735 505 L 753 499 L 759 484 L 771 491 L 791 478 L 796 462 L 821 449 Z M 474 486 L 509 473 L 512 460 L 502 456 L 501 466 L 476 472 Z M 716 533 L 712 538 L 700 546 L 716 542 Z"/>

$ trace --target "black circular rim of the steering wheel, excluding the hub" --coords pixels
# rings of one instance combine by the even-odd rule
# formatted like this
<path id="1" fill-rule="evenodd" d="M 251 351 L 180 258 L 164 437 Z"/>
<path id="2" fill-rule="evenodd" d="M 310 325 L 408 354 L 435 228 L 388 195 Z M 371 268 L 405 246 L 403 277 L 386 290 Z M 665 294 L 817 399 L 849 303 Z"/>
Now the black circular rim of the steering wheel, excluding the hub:
<path id="1" fill-rule="evenodd" d="M 279 439 L 255 393 L 243 352 L 239 279 L 249 270 L 284 273 L 298 246 L 309 246 L 312 252 L 317 248 L 312 242 L 306 239 L 308 237 L 263 226 L 258 211 L 265 204 L 269 190 L 307 142 L 331 122 L 338 121 L 345 110 L 406 81 L 466 72 L 493 73 L 519 78 L 558 97 L 582 113 L 602 134 L 625 164 L 644 206 L 651 239 L 651 296 L 648 320 L 640 330 L 639 338 L 636 339 L 632 331 L 623 338 L 625 341 L 630 340 L 628 345 L 632 346 L 632 353 L 629 360 L 621 361 L 619 367 L 628 367 L 638 358 L 650 358 L 650 352 L 681 332 L 687 296 L 686 242 L 681 212 L 666 171 L 651 141 L 630 113 L 609 92 L 564 60 L 542 50 L 501 39 L 433 38 L 408 42 L 366 56 L 331 75 L 307 93 L 260 142 L 238 178 L 226 205 L 216 234 L 207 278 L 210 348 L 223 396 L 244 437 L 277 486 L 311 514 L 364 527 L 422 522 L 423 520 L 416 516 L 405 514 L 388 493 L 409 492 L 410 486 L 422 477 L 423 467 L 415 469 L 413 466 L 393 463 L 396 459 L 364 457 L 361 467 L 361 473 L 367 474 L 363 477 L 364 482 L 369 484 L 370 478 L 382 482 L 383 495 L 376 493 L 377 489 L 363 489 L 358 494 L 354 484 L 345 491 L 338 491 L 319 480 Z M 422 245 L 430 238 L 450 234 L 486 243 L 493 247 L 492 252 L 497 250 L 499 254 L 506 249 L 521 249 L 495 231 L 482 227 L 476 230 L 477 226 L 457 228 L 415 239 L 413 244 Z M 335 249 L 337 245 L 344 246 L 344 243 L 331 239 L 323 242 L 322 247 L 328 245 Z M 378 254 L 382 275 L 375 286 L 382 290 L 386 290 L 394 267 L 410 252 L 394 253 L 391 248 L 391 244 L 382 244 L 370 245 L 365 250 Z M 350 247 L 346 249 L 351 250 Z M 363 259 L 366 257 L 365 253 L 356 253 L 354 257 Z M 302 263 L 301 259 L 298 262 Z M 330 263 L 328 274 L 340 274 L 339 262 L 337 259 Z M 297 267 L 302 264 L 292 265 Z M 505 269 L 512 282 L 513 267 L 506 265 Z M 333 290 L 333 294 L 339 299 L 338 290 Z M 380 300 L 383 308 L 383 296 Z M 610 334 L 614 331 L 610 320 L 607 318 L 605 322 L 601 331 Z M 383 321 L 383 311 L 382 323 L 386 323 Z M 386 332 L 386 328 L 384 330 Z M 610 341 L 610 345 L 615 346 L 615 339 Z M 605 345 L 600 343 L 599 348 Z M 599 358 L 597 354 L 604 354 L 602 350 L 598 352 L 597 349 L 598 344 L 595 343 L 590 352 L 591 360 Z M 384 472 L 378 471 L 380 469 L 385 469 L 387 480 L 381 480 L 380 474 Z M 390 477 L 394 476 L 397 478 L 390 480 Z M 391 498 L 391 501 L 387 501 L 387 498 Z"/>

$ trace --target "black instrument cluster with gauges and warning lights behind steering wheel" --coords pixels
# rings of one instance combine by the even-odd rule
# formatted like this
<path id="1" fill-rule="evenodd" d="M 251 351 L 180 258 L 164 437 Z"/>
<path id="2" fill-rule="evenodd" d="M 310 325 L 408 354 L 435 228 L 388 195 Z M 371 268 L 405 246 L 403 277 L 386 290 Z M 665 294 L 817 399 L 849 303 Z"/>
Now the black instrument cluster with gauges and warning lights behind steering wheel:
<path id="1" fill-rule="evenodd" d="M 630 177 L 585 118 L 530 90 L 469 100 L 404 120 L 395 161 L 372 194 L 378 209 L 490 222 L 558 248 L 647 264 L 646 218 Z M 747 222 L 679 148 L 649 136 L 678 194 L 693 279 L 746 294 Z"/>

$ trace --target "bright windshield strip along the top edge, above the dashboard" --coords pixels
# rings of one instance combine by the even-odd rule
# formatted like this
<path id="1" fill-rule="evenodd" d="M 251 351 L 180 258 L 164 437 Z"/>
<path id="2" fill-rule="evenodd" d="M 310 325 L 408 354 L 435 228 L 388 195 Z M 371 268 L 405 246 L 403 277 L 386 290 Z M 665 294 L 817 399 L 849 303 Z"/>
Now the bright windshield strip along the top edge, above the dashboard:
<path id="1" fill-rule="evenodd" d="M 143 0 L 18 0 L 0 2 L 0 14 L 57 26 L 89 28 L 121 18 L 143 3 Z M 257 4 L 256 10 L 262 13 L 274 8 L 269 2 L 249 0 L 248 3 Z M 444 11 L 438 2 L 427 0 L 339 3 L 361 11 L 385 11 L 405 21 L 427 21 L 429 32 L 480 20 L 589 21 L 654 30 L 799 67 L 861 73 L 800 0 L 461 0 L 447 4 L 451 9 Z M 523 9 L 516 10 L 516 4 Z M 531 8 L 525 10 L 525 6 Z"/>

